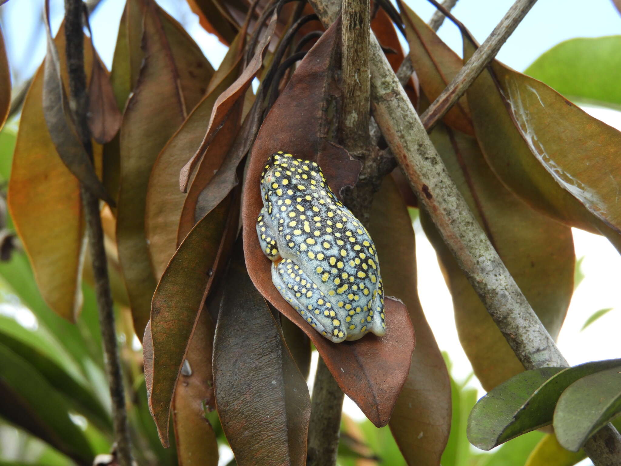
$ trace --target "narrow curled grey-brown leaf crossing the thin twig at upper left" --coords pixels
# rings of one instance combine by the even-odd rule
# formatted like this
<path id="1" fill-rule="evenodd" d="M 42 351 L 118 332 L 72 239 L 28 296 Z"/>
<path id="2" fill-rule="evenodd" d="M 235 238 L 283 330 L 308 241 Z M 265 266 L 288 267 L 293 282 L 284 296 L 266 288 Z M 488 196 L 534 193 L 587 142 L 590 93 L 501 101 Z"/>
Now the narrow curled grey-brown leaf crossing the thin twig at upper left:
<path id="1" fill-rule="evenodd" d="M 106 188 L 99 180 L 90 155 L 86 152 L 75 127 L 63 86 L 59 53 L 52 39 L 49 14 L 50 4 L 46 1 L 43 21 L 47 34 L 47 55 L 43 63 L 43 117 L 60 160 L 84 188 L 114 206 L 114 200 L 107 194 Z"/>

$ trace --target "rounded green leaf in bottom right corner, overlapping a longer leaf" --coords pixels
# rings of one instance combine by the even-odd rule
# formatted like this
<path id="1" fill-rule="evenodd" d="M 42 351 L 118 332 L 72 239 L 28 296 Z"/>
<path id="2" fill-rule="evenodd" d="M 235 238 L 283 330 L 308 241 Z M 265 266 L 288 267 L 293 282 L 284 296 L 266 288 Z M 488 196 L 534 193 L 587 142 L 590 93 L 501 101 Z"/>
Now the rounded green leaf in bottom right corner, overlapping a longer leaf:
<path id="1" fill-rule="evenodd" d="M 595 432 L 621 413 L 621 360 L 571 384 L 556 403 L 554 429 L 564 448 L 577 452 Z"/>

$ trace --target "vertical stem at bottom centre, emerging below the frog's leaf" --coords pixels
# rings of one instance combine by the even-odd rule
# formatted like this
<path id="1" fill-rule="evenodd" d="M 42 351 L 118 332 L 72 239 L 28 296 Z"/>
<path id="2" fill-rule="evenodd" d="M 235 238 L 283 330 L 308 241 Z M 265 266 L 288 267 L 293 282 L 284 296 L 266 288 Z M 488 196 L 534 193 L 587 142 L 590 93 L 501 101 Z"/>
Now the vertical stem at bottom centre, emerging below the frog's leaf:
<path id="1" fill-rule="evenodd" d="M 312 388 L 306 466 L 336 464 L 344 398 L 345 394 L 320 357 Z"/>

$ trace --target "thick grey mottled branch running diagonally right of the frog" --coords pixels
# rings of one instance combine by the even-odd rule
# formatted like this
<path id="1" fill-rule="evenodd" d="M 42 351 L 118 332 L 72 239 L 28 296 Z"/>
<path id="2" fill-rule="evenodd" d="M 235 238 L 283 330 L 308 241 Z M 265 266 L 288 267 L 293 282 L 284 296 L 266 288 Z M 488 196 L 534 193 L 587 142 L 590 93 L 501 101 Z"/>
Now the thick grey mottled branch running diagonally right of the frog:
<path id="1" fill-rule="evenodd" d="M 325 25 L 335 21 L 338 9 L 333 2 L 311 0 L 311 4 Z M 510 22 L 504 24 L 507 28 L 515 27 Z M 508 34 L 499 31 L 497 37 L 506 38 Z M 371 103 L 384 138 L 406 174 L 412 190 L 417 193 L 420 204 L 427 209 L 502 335 L 527 369 L 568 367 L 554 340 L 528 304 L 448 175 L 442 158 L 433 147 L 427 130 L 374 36 L 371 36 L 369 58 Z M 477 66 L 475 63 L 478 62 L 470 63 L 469 66 Z M 585 450 L 597 466 L 619 465 L 621 436 L 609 424 L 587 442 Z"/>

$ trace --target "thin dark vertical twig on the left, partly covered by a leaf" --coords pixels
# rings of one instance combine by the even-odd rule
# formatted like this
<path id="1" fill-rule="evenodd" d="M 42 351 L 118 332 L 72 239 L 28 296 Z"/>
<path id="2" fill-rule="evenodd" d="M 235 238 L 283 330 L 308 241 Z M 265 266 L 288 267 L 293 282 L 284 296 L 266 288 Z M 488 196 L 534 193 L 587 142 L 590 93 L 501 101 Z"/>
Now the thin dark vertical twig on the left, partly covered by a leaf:
<path id="1" fill-rule="evenodd" d="M 70 88 L 70 107 L 78 129 L 78 134 L 86 151 L 93 157 L 91 134 L 88 128 L 88 91 L 84 73 L 84 35 L 82 17 L 84 4 L 81 0 L 65 0 L 65 39 L 67 70 Z M 93 275 L 99 308 L 99 324 L 104 344 L 106 373 L 112 398 L 112 419 L 114 421 L 114 440 L 117 461 L 121 466 L 131 466 L 131 447 L 127 411 L 125 409 L 125 390 L 121 374 L 119 352 L 117 349 L 114 308 L 107 271 L 104 236 L 99 217 L 99 199 L 86 186 L 81 186 L 86 232 L 93 261 Z"/>

